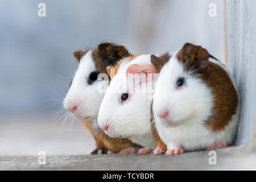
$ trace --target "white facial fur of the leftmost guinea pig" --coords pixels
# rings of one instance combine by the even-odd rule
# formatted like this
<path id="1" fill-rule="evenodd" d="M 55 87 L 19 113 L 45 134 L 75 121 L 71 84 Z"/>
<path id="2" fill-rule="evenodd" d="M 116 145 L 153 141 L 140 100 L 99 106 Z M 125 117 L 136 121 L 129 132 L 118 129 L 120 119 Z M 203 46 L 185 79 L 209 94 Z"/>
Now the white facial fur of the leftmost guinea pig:
<path id="1" fill-rule="evenodd" d="M 76 103 L 78 105 L 77 117 L 81 120 L 86 118 L 87 121 L 94 122 L 93 128 L 99 129 L 97 125 L 98 109 L 104 93 L 98 92 L 98 85 L 102 81 L 97 80 L 91 85 L 88 84 L 88 77 L 95 69 L 92 51 L 88 51 L 80 60 L 71 87 L 64 98 L 63 106 L 65 109 L 69 109 L 71 104 Z"/>

